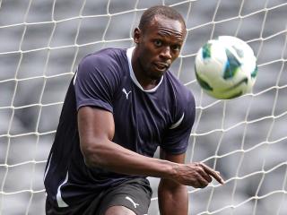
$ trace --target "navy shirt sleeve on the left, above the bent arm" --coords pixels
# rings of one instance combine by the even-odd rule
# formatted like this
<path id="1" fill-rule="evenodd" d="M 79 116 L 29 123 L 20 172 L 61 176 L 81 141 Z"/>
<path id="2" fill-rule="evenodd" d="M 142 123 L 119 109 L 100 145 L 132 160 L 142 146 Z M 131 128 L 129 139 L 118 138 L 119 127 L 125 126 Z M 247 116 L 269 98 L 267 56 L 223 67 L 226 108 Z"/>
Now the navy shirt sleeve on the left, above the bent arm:
<path id="1" fill-rule="evenodd" d="M 99 54 L 84 57 L 74 75 L 77 109 L 91 106 L 113 112 L 112 100 L 117 83 L 117 66 L 112 59 Z"/>

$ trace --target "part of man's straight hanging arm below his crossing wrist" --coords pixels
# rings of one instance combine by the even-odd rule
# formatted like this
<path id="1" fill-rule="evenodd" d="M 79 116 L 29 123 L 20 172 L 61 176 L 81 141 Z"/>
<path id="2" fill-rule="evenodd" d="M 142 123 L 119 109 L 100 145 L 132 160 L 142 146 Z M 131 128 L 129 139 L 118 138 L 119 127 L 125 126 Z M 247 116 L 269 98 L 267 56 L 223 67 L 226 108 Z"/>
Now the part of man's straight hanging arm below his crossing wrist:
<path id="1" fill-rule="evenodd" d="M 161 215 L 187 215 L 187 186 L 161 180 L 158 188 L 158 196 Z"/>

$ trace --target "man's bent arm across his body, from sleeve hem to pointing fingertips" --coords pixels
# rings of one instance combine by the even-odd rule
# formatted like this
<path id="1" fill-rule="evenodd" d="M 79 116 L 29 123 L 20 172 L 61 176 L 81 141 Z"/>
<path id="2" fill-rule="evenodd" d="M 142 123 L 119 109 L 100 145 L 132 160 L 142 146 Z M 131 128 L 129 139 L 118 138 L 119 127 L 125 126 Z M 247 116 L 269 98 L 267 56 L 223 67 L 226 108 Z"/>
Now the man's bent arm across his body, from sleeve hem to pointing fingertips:
<path id="1" fill-rule="evenodd" d="M 80 107 L 78 128 L 81 150 L 88 167 L 105 168 L 127 175 L 168 178 L 194 187 L 208 185 L 205 179 L 208 176 L 223 183 L 216 171 L 203 164 L 185 165 L 149 158 L 112 142 L 115 124 L 109 111 L 96 107 Z"/>

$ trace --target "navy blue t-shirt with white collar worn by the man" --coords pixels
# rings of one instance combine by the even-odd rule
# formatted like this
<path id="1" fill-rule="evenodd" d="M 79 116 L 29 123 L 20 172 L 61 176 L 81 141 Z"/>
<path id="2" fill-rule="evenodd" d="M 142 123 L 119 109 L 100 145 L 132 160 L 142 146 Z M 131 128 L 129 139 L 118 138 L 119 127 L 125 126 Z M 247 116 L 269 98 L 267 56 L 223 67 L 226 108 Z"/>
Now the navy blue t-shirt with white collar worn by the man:
<path id="1" fill-rule="evenodd" d="M 192 93 L 168 71 L 152 90 L 143 90 L 131 66 L 133 48 L 106 48 L 83 58 L 67 91 L 48 157 L 44 183 L 59 207 L 91 198 L 135 176 L 87 168 L 80 150 L 77 111 L 97 107 L 111 112 L 113 142 L 152 157 L 160 146 L 184 153 L 195 120 Z M 112 158 L 109 158 L 112 159 Z"/>

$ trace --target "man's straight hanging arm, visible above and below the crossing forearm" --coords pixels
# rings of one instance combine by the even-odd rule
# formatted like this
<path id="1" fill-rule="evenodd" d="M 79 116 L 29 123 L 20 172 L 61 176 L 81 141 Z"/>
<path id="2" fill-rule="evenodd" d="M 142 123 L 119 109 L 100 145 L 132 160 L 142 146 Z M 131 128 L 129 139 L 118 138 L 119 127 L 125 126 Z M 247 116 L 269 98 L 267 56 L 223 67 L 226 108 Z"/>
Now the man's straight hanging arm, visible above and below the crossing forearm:
<path id="1" fill-rule="evenodd" d="M 173 155 L 161 149 L 161 159 L 184 163 L 185 157 L 185 153 Z M 186 185 L 180 185 L 173 180 L 161 178 L 158 196 L 161 215 L 187 215 L 188 195 Z"/>

